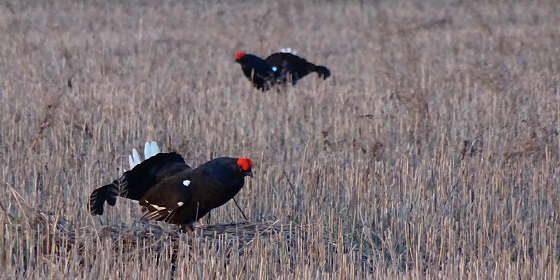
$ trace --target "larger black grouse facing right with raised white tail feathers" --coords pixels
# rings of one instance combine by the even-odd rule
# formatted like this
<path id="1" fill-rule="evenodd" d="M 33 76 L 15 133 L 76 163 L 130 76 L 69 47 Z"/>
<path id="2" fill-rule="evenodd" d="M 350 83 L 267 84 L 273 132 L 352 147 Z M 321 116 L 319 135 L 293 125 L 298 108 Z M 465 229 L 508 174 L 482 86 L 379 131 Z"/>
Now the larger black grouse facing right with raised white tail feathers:
<path id="1" fill-rule="evenodd" d="M 192 230 L 194 222 L 241 190 L 245 176 L 253 176 L 248 158 L 220 157 L 193 169 L 175 152 L 160 153 L 155 142 L 146 143 L 144 157 L 141 162 L 133 149 L 131 170 L 91 193 L 92 215 L 102 215 L 105 201 L 113 206 L 120 196 L 137 200 L 146 220 Z"/>

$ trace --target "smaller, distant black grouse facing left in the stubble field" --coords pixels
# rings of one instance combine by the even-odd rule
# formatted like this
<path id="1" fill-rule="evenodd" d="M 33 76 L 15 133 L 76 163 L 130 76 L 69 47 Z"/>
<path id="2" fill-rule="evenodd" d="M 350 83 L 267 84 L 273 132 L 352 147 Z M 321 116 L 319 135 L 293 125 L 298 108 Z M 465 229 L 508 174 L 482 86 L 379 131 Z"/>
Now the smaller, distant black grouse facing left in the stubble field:
<path id="1" fill-rule="evenodd" d="M 235 54 L 235 62 L 241 64 L 245 77 L 260 90 L 268 90 L 276 84 L 287 84 L 290 81 L 295 85 L 311 72 L 316 72 L 323 79 L 331 75 L 327 67 L 308 62 L 290 49 L 273 53 L 264 60 L 253 54 L 238 52 Z"/>

